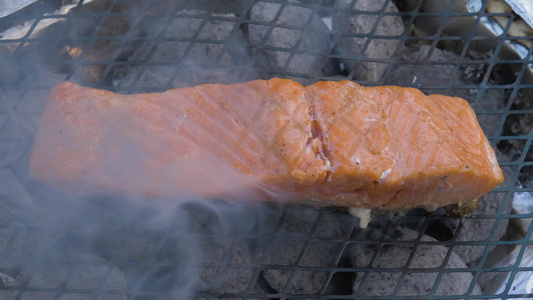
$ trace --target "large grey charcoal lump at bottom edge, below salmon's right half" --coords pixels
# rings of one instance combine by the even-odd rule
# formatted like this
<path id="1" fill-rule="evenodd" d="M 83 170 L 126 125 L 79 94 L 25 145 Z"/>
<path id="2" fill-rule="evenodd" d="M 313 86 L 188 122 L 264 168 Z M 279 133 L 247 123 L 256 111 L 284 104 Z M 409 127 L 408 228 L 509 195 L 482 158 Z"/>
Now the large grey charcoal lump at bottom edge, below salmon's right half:
<path id="1" fill-rule="evenodd" d="M 403 227 L 393 227 L 385 232 L 383 227 L 369 227 L 368 230 L 357 234 L 356 239 L 367 240 L 375 236 L 383 236 L 385 240 L 413 241 L 413 244 L 353 244 L 346 249 L 344 256 L 348 258 L 354 267 L 368 268 L 367 272 L 357 272 L 353 284 L 355 293 L 365 296 L 391 295 L 399 284 L 402 273 L 405 273 L 403 282 L 398 289 L 398 296 L 422 296 L 431 291 L 437 279 L 437 273 L 448 248 L 441 245 L 418 245 L 413 259 L 407 265 L 408 257 L 414 250 L 418 232 Z M 425 242 L 436 240 L 423 235 L 420 239 Z M 375 252 L 377 253 L 377 256 Z M 369 265 L 375 256 L 373 265 Z M 397 271 L 380 271 L 380 268 L 397 268 Z M 435 272 L 416 272 L 409 269 L 436 269 Z M 446 264 L 446 270 L 466 268 L 461 258 L 454 253 Z M 368 278 L 366 278 L 368 277 Z M 365 279 L 366 278 L 366 279 Z M 467 272 L 446 273 L 439 281 L 436 288 L 437 295 L 461 295 L 466 293 L 472 282 L 473 276 Z M 367 280 L 363 286 L 363 280 Z M 473 293 L 479 294 L 480 289 L 476 285 Z"/>

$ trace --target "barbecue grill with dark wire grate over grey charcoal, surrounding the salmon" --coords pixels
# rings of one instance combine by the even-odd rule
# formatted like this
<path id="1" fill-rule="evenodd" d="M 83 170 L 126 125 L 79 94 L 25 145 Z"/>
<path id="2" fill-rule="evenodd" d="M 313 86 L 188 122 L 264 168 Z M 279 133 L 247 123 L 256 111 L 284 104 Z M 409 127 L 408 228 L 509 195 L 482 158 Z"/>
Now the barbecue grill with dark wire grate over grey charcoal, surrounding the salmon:
<path id="1" fill-rule="evenodd" d="M 0 299 L 533 298 L 533 36 L 494 18 L 514 12 L 481 0 L 27 2 L 0 19 Z M 339 208 L 73 199 L 28 178 L 62 81 L 144 93 L 272 77 L 463 97 L 506 181 L 469 217 L 375 212 L 361 229 Z"/>

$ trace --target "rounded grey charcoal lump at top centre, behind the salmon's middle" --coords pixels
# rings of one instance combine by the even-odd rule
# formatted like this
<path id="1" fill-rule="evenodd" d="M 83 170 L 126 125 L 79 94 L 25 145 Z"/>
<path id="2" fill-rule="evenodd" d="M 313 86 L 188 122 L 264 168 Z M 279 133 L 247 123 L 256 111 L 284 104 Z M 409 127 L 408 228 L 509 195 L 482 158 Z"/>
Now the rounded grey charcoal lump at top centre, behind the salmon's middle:
<path id="1" fill-rule="evenodd" d="M 254 4 L 250 11 L 251 23 L 247 27 L 248 39 L 252 46 L 257 47 L 254 55 L 262 78 L 292 73 L 291 79 L 305 85 L 310 83 L 310 76 L 332 75 L 336 67 L 330 60 L 322 62 L 324 54 L 329 53 L 329 29 L 311 8 L 293 5 L 295 3 L 289 1 L 289 5 L 282 6 L 280 3 L 259 1 Z M 269 47 L 277 49 L 267 49 Z M 302 53 L 291 55 L 295 50 Z"/>

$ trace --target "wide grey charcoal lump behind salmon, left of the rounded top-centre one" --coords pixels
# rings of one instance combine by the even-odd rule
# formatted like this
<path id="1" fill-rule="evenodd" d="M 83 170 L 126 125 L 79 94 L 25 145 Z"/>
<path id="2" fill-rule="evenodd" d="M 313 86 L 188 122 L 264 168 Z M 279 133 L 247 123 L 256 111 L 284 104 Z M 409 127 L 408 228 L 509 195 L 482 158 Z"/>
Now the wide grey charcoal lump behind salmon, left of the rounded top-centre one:
<path id="1" fill-rule="evenodd" d="M 191 39 L 191 42 L 145 42 L 128 58 L 130 65 L 115 69 L 117 86 L 138 91 L 257 79 L 248 66 L 252 58 L 240 28 L 236 27 L 236 15 L 212 14 L 224 20 L 210 20 L 202 25 L 205 14 L 199 10 L 178 11 L 178 16 L 190 18 L 176 17 L 168 27 L 166 18 L 142 23 L 144 34 L 149 38 L 163 35 L 165 39 Z M 195 35 L 202 42 L 194 40 Z"/>

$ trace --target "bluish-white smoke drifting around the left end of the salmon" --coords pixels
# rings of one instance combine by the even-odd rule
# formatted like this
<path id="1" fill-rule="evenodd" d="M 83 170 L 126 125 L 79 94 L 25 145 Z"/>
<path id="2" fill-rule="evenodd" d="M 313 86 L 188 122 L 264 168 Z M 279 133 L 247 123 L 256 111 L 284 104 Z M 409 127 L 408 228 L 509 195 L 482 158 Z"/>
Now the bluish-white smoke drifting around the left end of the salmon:
<path id="1" fill-rule="evenodd" d="M 85 2 L 96 5 L 96 2 L 109 4 L 110 1 Z M 89 6 L 84 12 L 102 13 L 106 9 L 96 5 Z M 120 11 L 120 5 L 115 9 L 119 13 L 135 14 L 131 10 Z M 204 18 L 203 12 L 200 13 L 196 20 Z M 191 16 L 191 13 L 183 14 Z M 235 29 L 235 14 L 213 16 L 230 22 L 212 21 L 205 25 L 214 24 L 214 27 L 211 26 L 211 33 L 205 35 L 204 32 L 203 38 L 228 38 L 243 43 L 240 29 Z M 132 37 L 139 37 L 133 31 L 154 25 L 147 21 L 149 19 L 139 23 L 135 23 L 135 18 L 128 19 L 128 22 L 122 19 L 115 31 L 113 24 L 106 23 L 107 29 L 103 31 L 107 36 L 113 36 L 131 30 Z M 218 177 L 218 182 L 206 180 L 212 172 L 228 173 L 227 168 L 216 162 L 191 160 L 170 163 L 158 170 L 158 174 L 152 174 L 153 177 L 137 176 L 131 180 L 130 176 L 126 181 L 121 176 L 139 166 L 145 167 L 143 158 L 150 151 L 146 148 L 132 150 L 135 148 L 127 143 L 119 145 L 121 149 L 118 150 L 123 156 L 108 161 L 103 172 L 107 177 L 88 178 L 82 189 L 80 185 L 67 189 L 55 185 L 56 189 L 54 185 L 37 183 L 29 177 L 28 162 L 48 91 L 55 85 L 72 80 L 89 85 L 116 85 L 118 90 L 127 86 L 128 92 L 138 92 L 146 90 L 144 83 L 150 80 L 152 85 L 148 87 L 159 90 L 205 82 L 246 81 L 254 77 L 247 75 L 249 70 L 242 67 L 246 61 L 239 60 L 241 67 L 234 64 L 235 57 L 242 58 L 247 50 L 230 43 L 227 46 L 216 43 L 194 46 L 192 36 L 198 27 L 190 29 L 189 33 L 181 31 L 181 34 L 189 35 L 189 42 L 163 42 L 155 50 L 149 48 L 149 42 L 134 43 L 131 48 L 104 43 L 99 49 L 85 49 L 88 44 L 77 44 L 74 40 L 81 38 L 83 41 L 85 35 L 91 34 L 86 29 L 98 26 L 91 23 L 97 21 L 96 18 L 83 20 L 80 24 L 68 25 L 63 18 L 50 18 L 48 21 L 57 22 L 47 22 L 46 26 L 35 28 L 31 27 L 34 22 L 30 22 L 16 29 L 21 32 L 16 38 L 24 37 L 29 29 L 33 29 L 34 33 L 26 37 L 40 37 L 46 47 L 33 41 L 0 44 L 0 278 L 2 285 L 11 289 L 0 290 L 0 298 L 17 294 L 23 298 L 61 296 L 74 299 L 102 295 L 106 299 L 122 300 L 128 295 L 149 297 L 154 293 L 184 297 L 197 290 L 213 290 L 213 285 L 219 286 L 220 290 L 227 282 L 238 279 L 239 272 L 226 272 L 218 266 L 205 265 L 216 265 L 224 259 L 223 253 L 232 247 L 232 236 L 257 229 L 257 224 L 267 213 L 263 205 L 250 207 L 247 203 L 230 205 L 206 200 L 199 191 L 209 188 L 214 194 L 220 194 L 221 189 L 245 184 L 245 178 L 228 176 L 223 180 Z M 163 26 L 168 18 L 152 20 L 159 20 L 155 25 Z M 180 20 L 192 19 L 178 18 L 176 22 Z M 167 37 L 176 38 L 180 28 L 183 26 L 169 27 L 169 31 L 174 32 L 169 32 Z M 66 34 L 58 35 L 58 32 Z M 156 38 L 157 34 L 148 32 L 146 36 Z M 3 39 L 10 38 L 3 36 Z M 136 57 L 147 48 L 153 66 L 135 66 Z M 78 51 L 83 49 L 86 52 Z M 190 53 L 189 58 L 178 57 L 180 61 L 177 63 L 173 61 L 175 57 L 168 56 L 180 52 Z M 43 59 L 36 59 L 36 54 Z M 6 60 L 15 57 L 17 60 Z M 122 61 L 126 62 L 126 67 L 121 65 Z M 170 68 L 161 67 L 157 62 L 164 62 Z M 129 79 L 132 79 L 132 86 L 127 85 Z M 61 118 L 61 115 L 53 117 Z M 112 151 L 116 141 L 121 139 L 118 135 L 108 138 L 103 151 Z M 66 140 L 56 142 L 56 145 L 71 150 L 74 147 Z M 165 145 L 157 148 L 163 151 Z M 205 168 L 206 164 L 210 167 Z M 165 178 L 173 178 L 176 174 L 184 179 L 181 186 L 164 182 Z M 127 184 L 131 193 L 102 193 L 99 188 L 103 179 Z M 209 187 L 199 185 L 199 182 L 206 181 L 211 182 Z M 135 192 L 148 182 L 158 190 L 160 197 L 139 196 Z M 72 193 L 73 190 L 84 193 Z M 229 274 L 226 279 L 224 274 Z M 249 272 L 246 274 L 250 275 Z"/>

